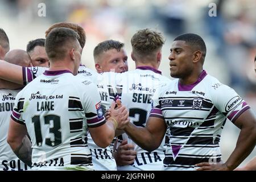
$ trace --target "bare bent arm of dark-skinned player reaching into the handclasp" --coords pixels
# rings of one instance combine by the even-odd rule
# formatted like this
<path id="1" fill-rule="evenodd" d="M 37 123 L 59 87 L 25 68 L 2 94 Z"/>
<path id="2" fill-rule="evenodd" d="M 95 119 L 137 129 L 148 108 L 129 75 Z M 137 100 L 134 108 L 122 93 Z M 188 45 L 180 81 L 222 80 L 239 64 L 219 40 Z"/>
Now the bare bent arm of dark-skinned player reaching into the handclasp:
<path id="1" fill-rule="evenodd" d="M 138 146 L 151 152 L 160 146 L 166 129 L 167 126 L 163 118 L 149 117 L 145 127 L 128 123 L 124 130 Z"/>

